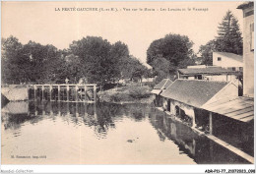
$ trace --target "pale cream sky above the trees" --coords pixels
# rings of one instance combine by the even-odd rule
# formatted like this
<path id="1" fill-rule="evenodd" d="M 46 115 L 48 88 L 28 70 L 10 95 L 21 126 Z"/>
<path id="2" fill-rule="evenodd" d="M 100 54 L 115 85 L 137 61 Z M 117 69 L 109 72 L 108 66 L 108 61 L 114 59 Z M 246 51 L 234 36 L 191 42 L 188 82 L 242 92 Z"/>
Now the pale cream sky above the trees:
<path id="1" fill-rule="evenodd" d="M 242 31 L 242 11 L 236 9 L 241 3 L 2 2 L 1 34 L 5 38 L 14 35 L 23 44 L 33 40 L 59 49 L 82 37 L 101 36 L 110 43 L 124 42 L 130 54 L 144 63 L 150 44 L 168 33 L 187 35 L 198 52 L 200 45 L 217 36 L 227 10 L 237 18 Z M 99 12 L 101 8 L 114 11 Z"/>

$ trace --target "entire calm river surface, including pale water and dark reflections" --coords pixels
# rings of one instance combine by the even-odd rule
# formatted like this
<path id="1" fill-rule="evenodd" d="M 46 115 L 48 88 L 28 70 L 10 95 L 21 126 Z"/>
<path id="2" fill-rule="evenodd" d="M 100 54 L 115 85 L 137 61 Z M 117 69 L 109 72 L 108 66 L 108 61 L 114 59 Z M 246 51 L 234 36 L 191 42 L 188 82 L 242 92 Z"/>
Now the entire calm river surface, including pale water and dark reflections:
<path id="1" fill-rule="evenodd" d="M 10 102 L 3 164 L 247 163 L 149 104 Z"/>

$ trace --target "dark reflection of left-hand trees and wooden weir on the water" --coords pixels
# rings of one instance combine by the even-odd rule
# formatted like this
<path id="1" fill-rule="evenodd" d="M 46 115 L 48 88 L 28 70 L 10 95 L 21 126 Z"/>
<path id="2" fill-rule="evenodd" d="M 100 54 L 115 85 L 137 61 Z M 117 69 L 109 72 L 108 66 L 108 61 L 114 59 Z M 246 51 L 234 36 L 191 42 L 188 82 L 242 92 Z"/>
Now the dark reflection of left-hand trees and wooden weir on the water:
<path id="1" fill-rule="evenodd" d="M 129 117 L 136 122 L 145 119 L 142 105 L 121 105 L 84 102 L 10 102 L 2 109 L 5 129 L 19 129 L 25 122 L 35 124 L 44 117 L 54 121 L 57 116 L 73 126 L 94 127 L 96 137 L 105 138 L 107 130 L 115 129 L 115 122 Z"/>

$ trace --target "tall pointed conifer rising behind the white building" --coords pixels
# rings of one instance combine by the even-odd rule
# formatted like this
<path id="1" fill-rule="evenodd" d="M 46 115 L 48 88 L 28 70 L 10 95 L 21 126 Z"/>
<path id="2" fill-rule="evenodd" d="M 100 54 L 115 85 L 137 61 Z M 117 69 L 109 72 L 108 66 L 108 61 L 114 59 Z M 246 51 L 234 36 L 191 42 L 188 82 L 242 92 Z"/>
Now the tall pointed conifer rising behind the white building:
<path id="1" fill-rule="evenodd" d="M 242 54 L 242 37 L 238 21 L 231 11 L 227 11 L 218 27 L 216 47 L 218 51 Z"/>

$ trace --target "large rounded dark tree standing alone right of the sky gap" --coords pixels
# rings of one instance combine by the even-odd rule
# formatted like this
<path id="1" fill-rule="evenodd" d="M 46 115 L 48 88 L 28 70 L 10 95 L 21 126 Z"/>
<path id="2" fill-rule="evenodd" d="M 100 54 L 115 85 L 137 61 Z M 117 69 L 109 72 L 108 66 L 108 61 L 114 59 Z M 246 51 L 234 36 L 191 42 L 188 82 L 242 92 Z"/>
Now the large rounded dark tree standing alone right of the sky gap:
<path id="1" fill-rule="evenodd" d="M 168 68 L 168 74 L 174 75 L 178 68 L 193 65 L 193 42 L 185 35 L 167 34 L 151 43 L 147 50 L 147 63 L 154 69 Z M 168 67 L 158 67 L 155 60 L 167 60 Z M 163 64 L 162 64 L 163 65 Z"/>

